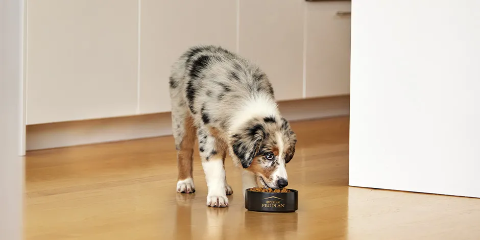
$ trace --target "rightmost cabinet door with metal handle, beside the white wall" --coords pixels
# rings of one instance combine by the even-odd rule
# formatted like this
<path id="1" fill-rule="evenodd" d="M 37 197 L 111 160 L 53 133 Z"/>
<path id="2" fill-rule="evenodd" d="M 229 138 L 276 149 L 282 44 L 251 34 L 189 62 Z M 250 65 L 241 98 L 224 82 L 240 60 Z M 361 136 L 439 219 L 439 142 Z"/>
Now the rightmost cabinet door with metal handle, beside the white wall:
<path id="1" fill-rule="evenodd" d="M 351 2 L 306 3 L 306 97 L 350 93 Z"/>

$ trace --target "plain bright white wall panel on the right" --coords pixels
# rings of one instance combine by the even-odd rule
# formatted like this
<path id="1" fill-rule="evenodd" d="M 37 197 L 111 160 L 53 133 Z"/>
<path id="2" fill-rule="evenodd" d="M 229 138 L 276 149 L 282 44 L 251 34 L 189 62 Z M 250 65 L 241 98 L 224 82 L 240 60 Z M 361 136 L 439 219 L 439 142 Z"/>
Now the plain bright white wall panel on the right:
<path id="1" fill-rule="evenodd" d="M 478 9 L 352 1 L 350 185 L 480 197 Z"/>

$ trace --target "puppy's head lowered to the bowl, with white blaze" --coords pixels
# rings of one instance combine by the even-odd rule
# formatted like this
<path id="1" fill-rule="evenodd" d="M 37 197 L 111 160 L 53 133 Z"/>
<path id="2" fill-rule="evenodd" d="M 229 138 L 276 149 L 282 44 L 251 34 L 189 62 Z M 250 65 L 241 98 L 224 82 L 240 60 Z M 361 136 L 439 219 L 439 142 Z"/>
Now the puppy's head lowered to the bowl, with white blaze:
<path id="1" fill-rule="evenodd" d="M 271 188 L 288 184 L 285 164 L 292 160 L 296 143 L 289 122 L 274 116 L 252 119 L 231 136 L 234 160 Z"/>

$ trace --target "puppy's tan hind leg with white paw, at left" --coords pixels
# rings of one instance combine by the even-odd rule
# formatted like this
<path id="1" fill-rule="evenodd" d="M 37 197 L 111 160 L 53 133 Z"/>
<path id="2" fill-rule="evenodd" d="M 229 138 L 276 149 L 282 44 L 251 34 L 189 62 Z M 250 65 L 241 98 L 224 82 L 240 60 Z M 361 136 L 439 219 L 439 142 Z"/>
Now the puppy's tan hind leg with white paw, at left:
<path id="1" fill-rule="evenodd" d="M 175 103 L 173 102 L 172 105 Z M 193 179 L 193 153 L 196 128 L 186 105 L 176 104 L 172 108 L 172 129 L 175 137 L 178 166 L 178 193 L 195 193 Z"/>

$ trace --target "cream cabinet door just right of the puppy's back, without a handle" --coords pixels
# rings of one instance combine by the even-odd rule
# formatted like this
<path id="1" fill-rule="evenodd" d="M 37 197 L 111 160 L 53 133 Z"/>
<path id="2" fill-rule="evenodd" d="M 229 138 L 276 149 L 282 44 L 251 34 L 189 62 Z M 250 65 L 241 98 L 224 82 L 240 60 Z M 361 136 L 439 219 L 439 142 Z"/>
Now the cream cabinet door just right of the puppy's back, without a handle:
<path id="1" fill-rule="evenodd" d="M 277 100 L 303 97 L 303 0 L 239 0 L 239 53 L 269 76 Z"/>

